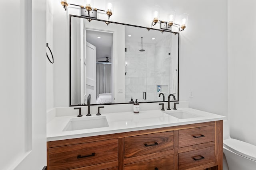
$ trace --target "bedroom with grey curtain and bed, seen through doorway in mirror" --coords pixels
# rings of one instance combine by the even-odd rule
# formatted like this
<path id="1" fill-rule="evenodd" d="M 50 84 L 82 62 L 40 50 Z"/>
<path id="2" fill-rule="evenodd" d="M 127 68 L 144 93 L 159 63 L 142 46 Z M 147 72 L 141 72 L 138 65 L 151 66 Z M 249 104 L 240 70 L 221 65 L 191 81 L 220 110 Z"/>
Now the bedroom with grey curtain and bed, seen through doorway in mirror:
<path id="1" fill-rule="evenodd" d="M 94 47 L 92 47 L 94 46 Z M 91 48 L 92 47 L 92 48 Z M 92 50 L 96 50 L 93 53 Z M 93 55 L 96 56 L 93 56 Z M 86 30 L 86 59 L 96 57 L 96 88 L 90 81 L 86 82 L 86 92 L 91 93 L 96 101 L 91 101 L 93 104 L 110 104 L 112 103 L 112 56 L 113 56 L 113 33 Z M 94 70 L 86 70 L 88 77 Z"/>

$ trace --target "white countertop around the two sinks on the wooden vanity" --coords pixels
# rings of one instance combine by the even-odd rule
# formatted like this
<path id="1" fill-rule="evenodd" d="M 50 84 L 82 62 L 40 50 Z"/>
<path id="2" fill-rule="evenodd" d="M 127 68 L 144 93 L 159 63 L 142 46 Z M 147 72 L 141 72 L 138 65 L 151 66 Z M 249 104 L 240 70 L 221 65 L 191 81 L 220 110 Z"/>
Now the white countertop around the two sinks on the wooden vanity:
<path id="1" fill-rule="evenodd" d="M 166 110 L 167 111 L 167 110 Z M 120 112 L 120 113 L 104 113 L 100 116 L 92 115 L 90 117 L 105 116 L 108 121 L 108 127 L 100 127 L 94 129 L 82 129 L 74 131 L 63 131 L 70 119 L 80 119 L 75 115 L 72 116 L 56 116 L 46 125 L 47 141 L 57 141 L 64 139 L 73 139 L 80 137 L 90 137 L 96 135 L 107 135 L 114 133 L 122 133 L 129 131 L 138 131 L 145 129 L 155 129 L 160 127 L 172 127 L 177 125 L 186 125 L 192 123 L 202 123 L 208 121 L 223 120 L 225 117 L 205 111 L 191 108 L 180 108 L 169 112 L 184 111 L 196 115 L 197 117 L 188 119 L 178 119 L 168 115 L 161 110 L 140 111 L 140 113 Z M 86 116 L 83 115 L 83 119 Z M 89 118 L 89 117 L 87 117 Z"/>

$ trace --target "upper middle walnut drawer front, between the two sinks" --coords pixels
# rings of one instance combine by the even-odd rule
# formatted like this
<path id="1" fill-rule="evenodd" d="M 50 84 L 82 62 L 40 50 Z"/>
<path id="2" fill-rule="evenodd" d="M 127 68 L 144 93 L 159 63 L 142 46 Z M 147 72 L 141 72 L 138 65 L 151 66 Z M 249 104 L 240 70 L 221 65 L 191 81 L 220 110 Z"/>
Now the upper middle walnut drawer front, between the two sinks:
<path id="1" fill-rule="evenodd" d="M 173 149 L 173 131 L 124 138 L 124 158 Z"/>

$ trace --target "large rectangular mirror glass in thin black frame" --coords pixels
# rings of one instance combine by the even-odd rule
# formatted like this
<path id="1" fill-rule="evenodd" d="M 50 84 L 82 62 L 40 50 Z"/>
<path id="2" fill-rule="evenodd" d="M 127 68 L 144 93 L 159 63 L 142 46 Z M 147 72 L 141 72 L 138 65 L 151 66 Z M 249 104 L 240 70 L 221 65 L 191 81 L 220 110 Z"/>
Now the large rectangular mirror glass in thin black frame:
<path id="1" fill-rule="evenodd" d="M 70 15 L 70 106 L 178 101 L 179 33 Z"/>

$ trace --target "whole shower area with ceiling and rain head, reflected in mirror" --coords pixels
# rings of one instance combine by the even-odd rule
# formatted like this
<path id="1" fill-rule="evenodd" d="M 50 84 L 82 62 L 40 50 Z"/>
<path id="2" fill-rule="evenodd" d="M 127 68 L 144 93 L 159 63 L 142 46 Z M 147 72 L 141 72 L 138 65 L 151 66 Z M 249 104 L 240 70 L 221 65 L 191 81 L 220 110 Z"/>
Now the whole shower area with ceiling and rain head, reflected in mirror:
<path id="1" fill-rule="evenodd" d="M 178 37 L 178 36 L 177 36 Z M 125 100 L 160 101 L 178 95 L 177 43 L 172 33 L 125 27 Z"/>

